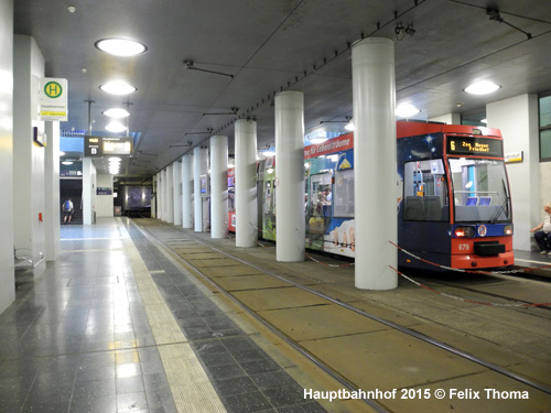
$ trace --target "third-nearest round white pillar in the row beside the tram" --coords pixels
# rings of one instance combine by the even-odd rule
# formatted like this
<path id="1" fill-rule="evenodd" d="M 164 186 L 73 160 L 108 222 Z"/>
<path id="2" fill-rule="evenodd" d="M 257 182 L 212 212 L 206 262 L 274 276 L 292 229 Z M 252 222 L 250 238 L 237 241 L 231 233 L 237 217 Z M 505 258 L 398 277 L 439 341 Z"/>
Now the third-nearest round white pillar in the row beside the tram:
<path id="1" fill-rule="evenodd" d="M 257 122 L 236 121 L 236 247 L 256 247 L 257 222 Z"/>

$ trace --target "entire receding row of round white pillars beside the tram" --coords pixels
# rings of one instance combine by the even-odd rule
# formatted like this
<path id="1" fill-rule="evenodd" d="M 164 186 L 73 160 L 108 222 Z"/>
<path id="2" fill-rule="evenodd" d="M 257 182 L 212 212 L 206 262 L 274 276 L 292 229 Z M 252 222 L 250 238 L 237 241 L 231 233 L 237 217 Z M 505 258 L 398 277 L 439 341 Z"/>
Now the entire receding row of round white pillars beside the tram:
<path id="1" fill-rule="evenodd" d="M 366 39 L 353 46 L 353 107 L 355 165 L 355 285 L 366 290 L 389 290 L 398 284 L 397 166 L 395 51 L 388 39 Z M 305 259 L 304 218 L 304 96 L 282 91 L 276 96 L 276 259 Z M 227 137 L 210 138 L 210 233 L 224 238 L 228 231 Z M 256 122 L 235 123 L 236 247 L 257 243 L 257 132 Z M 195 148 L 168 166 L 158 181 L 159 218 L 203 231 L 205 202 L 202 189 L 208 169 L 208 150 Z M 192 166 L 193 164 L 193 166 Z M 176 166 L 174 166 L 176 165 Z M 180 171 L 181 167 L 181 171 Z M 193 167 L 193 176 L 192 176 Z M 182 182 L 180 182 L 180 176 Z M 192 196 L 191 182 L 194 182 Z M 180 194 L 182 184 L 182 194 Z M 181 198 L 180 198 L 181 196 Z M 193 197 L 193 214 L 192 214 Z M 176 198 L 176 203 L 174 202 Z M 181 199 L 182 213 L 174 205 Z M 175 211 L 179 218 L 175 217 Z M 182 217 L 182 220 L 180 220 Z M 192 222 L 193 221 L 193 222 Z M 193 225 L 192 225 L 193 224 Z"/>

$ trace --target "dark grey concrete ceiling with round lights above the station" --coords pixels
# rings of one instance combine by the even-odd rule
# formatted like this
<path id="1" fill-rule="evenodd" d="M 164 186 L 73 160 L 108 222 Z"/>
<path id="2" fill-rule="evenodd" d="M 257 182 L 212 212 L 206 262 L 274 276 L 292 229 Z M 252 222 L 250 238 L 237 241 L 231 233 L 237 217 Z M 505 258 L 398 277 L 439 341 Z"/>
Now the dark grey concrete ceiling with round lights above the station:
<path id="1" fill-rule="evenodd" d="M 484 112 L 485 105 L 551 90 L 549 0 L 17 0 L 15 34 L 34 36 L 46 76 L 69 85 L 63 130 L 104 130 L 101 112 L 131 102 L 139 132 L 128 180 L 154 174 L 214 134 L 229 137 L 242 117 L 258 121 L 258 148 L 273 145 L 273 97 L 301 90 L 306 133 L 321 121 L 352 116 L 350 44 L 367 36 L 396 41 L 397 102 L 422 110 L 415 119 Z M 73 6 L 76 11 L 67 9 Z M 497 10 L 504 22 L 490 20 Z M 398 24 L 413 36 L 397 40 Z M 527 33 L 530 33 L 528 35 Z M 133 39 L 148 52 L 116 57 L 95 42 Z M 191 70 L 202 69 L 234 77 Z M 86 68 L 86 70 L 83 70 Z M 84 73 L 85 72 L 85 73 Z M 125 79 L 138 88 L 114 97 L 98 87 Z M 491 79 L 484 97 L 463 89 Z M 227 113 L 238 108 L 237 115 Z M 498 127 L 498 126 L 497 126 Z"/>

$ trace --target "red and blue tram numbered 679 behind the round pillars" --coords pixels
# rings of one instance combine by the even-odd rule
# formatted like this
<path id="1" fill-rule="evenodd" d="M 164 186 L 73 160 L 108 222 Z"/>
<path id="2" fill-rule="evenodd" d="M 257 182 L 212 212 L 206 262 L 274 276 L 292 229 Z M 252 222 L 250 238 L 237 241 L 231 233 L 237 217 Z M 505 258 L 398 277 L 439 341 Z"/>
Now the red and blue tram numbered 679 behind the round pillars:
<path id="1" fill-rule="evenodd" d="M 399 121 L 397 144 L 398 243 L 421 259 L 400 252 L 399 265 L 437 270 L 514 264 L 512 209 L 499 130 Z M 355 257 L 353 133 L 306 146 L 304 160 L 306 248 Z M 276 173 L 259 180 L 259 199 L 270 200 L 259 210 L 262 235 L 274 240 Z"/>

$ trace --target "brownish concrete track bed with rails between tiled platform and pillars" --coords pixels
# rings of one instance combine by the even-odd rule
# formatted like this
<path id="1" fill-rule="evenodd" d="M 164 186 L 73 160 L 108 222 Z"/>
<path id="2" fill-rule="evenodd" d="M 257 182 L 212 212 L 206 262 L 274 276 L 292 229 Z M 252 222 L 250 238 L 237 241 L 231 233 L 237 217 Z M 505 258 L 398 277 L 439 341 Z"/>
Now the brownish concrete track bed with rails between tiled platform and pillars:
<path id="1" fill-rule="evenodd" d="M 396 395 L 378 398 L 385 410 L 551 411 L 551 394 L 545 392 L 551 388 L 551 312 L 548 307 L 500 306 L 516 300 L 549 302 L 550 284 L 486 275 L 465 276 L 464 283 L 455 276 L 451 285 L 440 284 L 443 279 L 437 278 L 424 281 L 449 295 L 468 295 L 488 305 L 434 294 L 404 280 L 395 291 L 359 291 L 354 287 L 354 269 L 344 262 L 336 268 L 311 260 L 281 263 L 270 247 L 238 249 L 231 239 L 213 240 L 208 233 L 152 219 L 133 222 L 213 291 L 216 289 L 209 282 L 356 389 L 396 389 Z M 338 264 L 326 257 L 321 260 Z M 377 318 L 451 345 L 526 380 L 493 371 Z"/>

